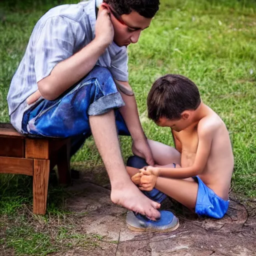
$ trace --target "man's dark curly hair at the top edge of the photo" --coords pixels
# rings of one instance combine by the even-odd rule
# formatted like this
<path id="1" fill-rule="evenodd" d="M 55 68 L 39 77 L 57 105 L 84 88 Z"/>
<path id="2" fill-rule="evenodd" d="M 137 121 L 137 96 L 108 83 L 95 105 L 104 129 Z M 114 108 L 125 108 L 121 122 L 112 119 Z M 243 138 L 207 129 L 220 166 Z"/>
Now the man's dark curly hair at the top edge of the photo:
<path id="1" fill-rule="evenodd" d="M 129 14 L 132 10 L 145 18 L 152 18 L 159 8 L 159 0 L 103 0 L 119 14 Z"/>

